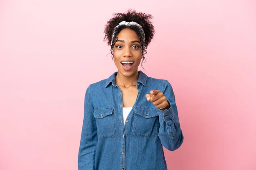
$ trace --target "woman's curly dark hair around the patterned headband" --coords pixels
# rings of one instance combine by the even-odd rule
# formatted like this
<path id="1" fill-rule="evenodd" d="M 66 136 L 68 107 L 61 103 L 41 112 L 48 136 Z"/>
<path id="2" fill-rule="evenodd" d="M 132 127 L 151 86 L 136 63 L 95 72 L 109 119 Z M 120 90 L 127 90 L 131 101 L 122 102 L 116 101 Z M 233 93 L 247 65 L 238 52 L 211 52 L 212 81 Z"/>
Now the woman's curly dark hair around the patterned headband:
<path id="1" fill-rule="evenodd" d="M 135 10 L 128 10 L 127 13 L 114 13 L 113 14 L 113 18 L 111 18 L 110 20 L 108 20 L 107 24 L 105 25 L 105 37 L 104 37 L 104 41 L 108 42 L 108 45 L 111 46 L 111 54 L 112 54 L 112 60 L 113 60 L 113 47 L 114 44 L 117 40 L 117 34 L 119 34 L 119 32 L 124 29 L 124 28 L 129 28 L 133 31 L 135 31 L 138 35 L 138 37 L 140 38 L 140 42 L 141 43 L 141 48 L 142 48 L 142 55 L 143 55 L 143 60 L 142 63 L 145 60 L 144 55 L 147 53 L 147 47 L 148 44 L 151 42 L 152 38 L 154 37 L 154 26 L 152 25 L 151 19 L 154 18 L 152 17 L 151 14 L 145 14 L 142 12 L 136 12 Z M 138 24 L 140 24 L 143 28 L 143 31 L 145 33 L 145 41 L 143 42 L 143 35 L 140 31 L 140 28 L 138 26 L 119 26 L 116 29 L 116 34 L 113 37 L 113 42 L 111 44 L 112 41 L 112 34 L 113 34 L 113 30 L 114 28 L 119 25 L 120 22 L 122 21 L 126 21 L 126 22 L 131 22 L 134 21 Z M 141 63 L 141 66 L 143 68 L 143 65 Z M 143 68 L 144 69 L 144 68 Z"/>

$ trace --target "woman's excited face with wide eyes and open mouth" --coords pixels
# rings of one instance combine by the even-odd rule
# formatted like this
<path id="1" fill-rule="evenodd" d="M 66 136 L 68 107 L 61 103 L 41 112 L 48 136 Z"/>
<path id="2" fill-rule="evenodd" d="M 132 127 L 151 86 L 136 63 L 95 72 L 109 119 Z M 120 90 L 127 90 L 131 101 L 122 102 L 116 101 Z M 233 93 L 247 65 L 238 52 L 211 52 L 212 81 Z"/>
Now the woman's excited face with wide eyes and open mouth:
<path id="1" fill-rule="evenodd" d="M 123 76 L 132 76 L 138 71 L 143 58 L 140 38 L 135 31 L 128 28 L 120 31 L 117 38 L 113 48 L 115 65 Z"/>

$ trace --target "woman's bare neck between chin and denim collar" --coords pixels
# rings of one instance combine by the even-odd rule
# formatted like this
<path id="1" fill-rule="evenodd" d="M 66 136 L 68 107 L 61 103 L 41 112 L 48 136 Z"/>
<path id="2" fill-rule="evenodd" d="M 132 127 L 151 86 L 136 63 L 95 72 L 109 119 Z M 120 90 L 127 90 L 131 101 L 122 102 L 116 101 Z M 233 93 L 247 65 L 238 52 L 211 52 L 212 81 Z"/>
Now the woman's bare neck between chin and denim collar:
<path id="1" fill-rule="evenodd" d="M 122 75 L 119 71 L 117 72 L 117 75 L 115 77 L 116 79 L 116 85 L 123 86 L 125 88 L 128 88 L 131 85 L 135 85 L 137 83 L 137 80 L 139 78 L 138 71 L 135 71 L 134 74 L 128 76 Z"/>

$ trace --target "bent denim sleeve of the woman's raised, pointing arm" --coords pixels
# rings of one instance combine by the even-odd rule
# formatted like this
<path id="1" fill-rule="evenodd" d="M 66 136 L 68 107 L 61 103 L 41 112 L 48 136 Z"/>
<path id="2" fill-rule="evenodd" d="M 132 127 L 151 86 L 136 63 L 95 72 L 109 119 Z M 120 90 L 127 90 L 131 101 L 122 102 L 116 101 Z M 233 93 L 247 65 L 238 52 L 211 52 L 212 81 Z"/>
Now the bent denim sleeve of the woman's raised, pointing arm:
<path id="1" fill-rule="evenodd" d="M 168 80 L 163 82 L 162 93 L 166 96 L 170 108 L 163 110 L 156 108 L 160 122 L 158 136 L 162 145 L 166 149 L 174 151 L 183 143 L 183 134 L 180 128 L 178 111 L 175 103 L 175 95 L 172 85 L 168 82 Z"/>

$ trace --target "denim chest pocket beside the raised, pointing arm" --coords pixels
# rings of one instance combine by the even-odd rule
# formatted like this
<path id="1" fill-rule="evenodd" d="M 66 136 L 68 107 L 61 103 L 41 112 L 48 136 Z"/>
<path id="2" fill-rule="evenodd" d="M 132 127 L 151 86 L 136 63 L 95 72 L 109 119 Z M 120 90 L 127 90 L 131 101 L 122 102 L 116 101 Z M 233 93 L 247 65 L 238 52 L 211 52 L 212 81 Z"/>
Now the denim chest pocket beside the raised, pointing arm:
<path id="1" fill-rule="evenodd" d="M 159 117 L 155 108 L 134 107 L 132 133 L 134 136 L 154 137 L 157 135 Z"/>

